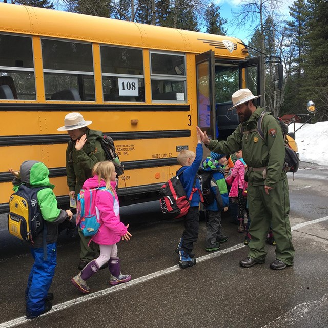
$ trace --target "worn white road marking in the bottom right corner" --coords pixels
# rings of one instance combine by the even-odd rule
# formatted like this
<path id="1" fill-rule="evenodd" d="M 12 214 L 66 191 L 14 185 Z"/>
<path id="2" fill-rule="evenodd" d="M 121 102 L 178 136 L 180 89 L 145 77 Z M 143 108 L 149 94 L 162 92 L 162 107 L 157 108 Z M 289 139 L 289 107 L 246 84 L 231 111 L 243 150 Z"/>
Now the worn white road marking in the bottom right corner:
<path id="1" fill-rule="evenodd" d="M 280 328 L 288 327 L 291 324 L 295 324 L 298 319 L 305 317 L 311 310 L 318 311 L 324 306 L 323 311 L 327 307 L 328 294 L 323 295 L 319 300 L 304 302 L 295 306 L 295 308 L 284 313 L 282 316 L 269 322 L 262 328 Z"/>

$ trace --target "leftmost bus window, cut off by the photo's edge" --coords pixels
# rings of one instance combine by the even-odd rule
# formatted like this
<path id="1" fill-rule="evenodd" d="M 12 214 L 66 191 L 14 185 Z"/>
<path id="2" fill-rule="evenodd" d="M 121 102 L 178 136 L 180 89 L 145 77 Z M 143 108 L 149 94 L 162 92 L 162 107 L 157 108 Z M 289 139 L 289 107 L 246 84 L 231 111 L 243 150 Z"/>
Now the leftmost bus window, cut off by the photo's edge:
<path id="1" fill-rule="evenodd" d="M 0 34 L 0 85 L 9 85 L 11 99 L 36 99 L 31 37 Z"/>

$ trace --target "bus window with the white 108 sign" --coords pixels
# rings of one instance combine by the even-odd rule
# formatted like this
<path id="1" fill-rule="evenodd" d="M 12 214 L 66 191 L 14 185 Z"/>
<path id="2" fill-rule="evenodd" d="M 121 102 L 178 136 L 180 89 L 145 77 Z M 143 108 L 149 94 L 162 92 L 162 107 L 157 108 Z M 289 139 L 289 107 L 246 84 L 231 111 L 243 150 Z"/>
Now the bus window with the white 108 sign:
<path id="1" fill-rule="evenodd" d="M 100 46 L 104 101 L 145 101 L 142 50 Z"/>

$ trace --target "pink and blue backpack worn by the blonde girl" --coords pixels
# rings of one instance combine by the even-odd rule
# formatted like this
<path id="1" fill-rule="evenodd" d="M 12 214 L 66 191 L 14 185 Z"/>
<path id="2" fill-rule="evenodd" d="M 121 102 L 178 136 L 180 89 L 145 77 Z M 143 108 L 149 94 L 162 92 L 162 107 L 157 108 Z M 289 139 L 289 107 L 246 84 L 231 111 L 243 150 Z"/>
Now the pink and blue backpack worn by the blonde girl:
<path id="1" fill-rule="evenodd" d="M 100 228 L 100 214 L 95 206 L 96 193 L 98 190 L 105 189 L 106 187 L 81 189 L 77 195 L 76 226 L 81 228 L 81 232 L 86 237 L 94 236 Z M 113 195 L 109 189 L 106 191 Z"/>

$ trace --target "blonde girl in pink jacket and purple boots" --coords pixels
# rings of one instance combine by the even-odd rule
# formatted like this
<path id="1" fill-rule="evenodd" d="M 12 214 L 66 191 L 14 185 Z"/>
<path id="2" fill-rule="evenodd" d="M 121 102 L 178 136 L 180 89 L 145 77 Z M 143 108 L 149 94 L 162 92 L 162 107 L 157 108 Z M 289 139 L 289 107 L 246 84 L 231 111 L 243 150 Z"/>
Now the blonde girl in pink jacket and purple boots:
<path id="1" fill-rule="evenodd" d="M 93 236 L 92 241 L 99 244 L 100 255 L 98 258 L 88 263 L 75 277 L 71 279 L 73 285 L 82 293 L 87 294 L 90 288 L 86 280 L 99 271 L 101 265 L 108 263 L 111 273 L 109 284 L 131 280 L 130 275 L 122 275 L 120 272 L 120 259 L 117 257 L 116 243 L 122 240 L 130 240 L 131 234 L 128 227 L 119 220 L 119 203 L 116 194 L 116 172 L 115 166 L 110 161 L 98 162 L 92 169 L 92 178 L 83 184 L 84 189 L 95 189 L 106 187 L 104 190 L 97 190 L 95 193 L 95 209 L 93 213 L 99 213 L 100 228 Z"/>

